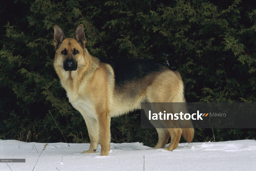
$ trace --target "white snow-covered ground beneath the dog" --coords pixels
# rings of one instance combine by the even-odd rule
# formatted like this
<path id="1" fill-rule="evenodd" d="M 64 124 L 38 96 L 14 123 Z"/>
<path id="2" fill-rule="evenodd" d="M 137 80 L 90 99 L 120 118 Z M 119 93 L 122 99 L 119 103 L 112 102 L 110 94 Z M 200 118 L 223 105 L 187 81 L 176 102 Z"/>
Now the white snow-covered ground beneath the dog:
<path id="1" fill-rule="evenodd" d="M 109 156 L 99 156 L 100 145 L 93 154 L 80 154 L 90 144 L 49 143 L 43 150 L 45 144 L 0 140 L 1 159 L 26 159 L 25 163 L 0 163 L 0 170 L 256 170 L 255 140 L 180 143 L 173 151 L 150 149 L 142 143 L 111 143 Z"/>

